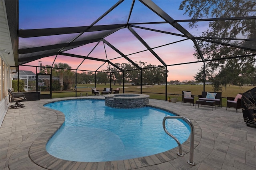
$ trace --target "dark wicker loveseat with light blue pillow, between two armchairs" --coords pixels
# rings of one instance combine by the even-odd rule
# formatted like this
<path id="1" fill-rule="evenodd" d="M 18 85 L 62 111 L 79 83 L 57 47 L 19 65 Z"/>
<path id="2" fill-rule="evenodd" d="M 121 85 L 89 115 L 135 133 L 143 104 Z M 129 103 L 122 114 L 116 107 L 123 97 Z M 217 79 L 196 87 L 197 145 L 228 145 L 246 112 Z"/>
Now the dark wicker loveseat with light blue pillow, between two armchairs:
<path id="1" fill-rule="evenodd" d="M 222 95 L 221 92 L 202 91 L 202 95 L 198 95 L 198 99 L 204 100 L 204 101 L 215 101 L 216 105 L 222 107 L 222 96 L 221 95 Z"/>

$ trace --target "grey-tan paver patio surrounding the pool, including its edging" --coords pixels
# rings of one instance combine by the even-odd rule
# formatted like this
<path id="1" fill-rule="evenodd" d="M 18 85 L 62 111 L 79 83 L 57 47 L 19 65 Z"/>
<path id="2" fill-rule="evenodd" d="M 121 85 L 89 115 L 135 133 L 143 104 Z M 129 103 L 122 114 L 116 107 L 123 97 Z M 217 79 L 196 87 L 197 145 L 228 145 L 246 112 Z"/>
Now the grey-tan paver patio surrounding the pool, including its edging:
<path id="1" fill-rule="evenodd" d="M 104 99 L 103 96 L 73 97 Z M 64 122 L 64 115 L 43 107 L 63 99 L 22 102 L 26 107 L 9 109 L 0 128 L 1 170 L 253 170 L 256 169 L 256 128 L 247 127 L 242 110 L 195 106 L 150 99 L 149 105 L 172 111 L 190 119 L 195 128 L 194 162 L 187 163 L 190 139 L 184 156 L 178 147 L 164 153 L 111 162 L 73 162 L 46 152 L 46 142 Z"/>

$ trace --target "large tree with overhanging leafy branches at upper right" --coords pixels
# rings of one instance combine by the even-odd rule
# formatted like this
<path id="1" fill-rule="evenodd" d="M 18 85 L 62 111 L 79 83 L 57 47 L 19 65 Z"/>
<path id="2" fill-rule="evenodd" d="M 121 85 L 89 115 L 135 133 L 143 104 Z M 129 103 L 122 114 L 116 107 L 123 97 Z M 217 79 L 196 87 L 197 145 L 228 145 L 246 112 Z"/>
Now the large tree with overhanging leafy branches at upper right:
<path id="1" fill-rule="evenodd" d="M 209 15 L 211 18 L 256 16 L 256 1 L 183 0 L 179 9 L 185 9 L 184 14 L 188 14 L 192 19 L 207 18 Z M 189 26 L 190 28 L 196 28 L 198 25 L 197 22 L 190 22 Z M 235 41 L 231 39 L 240 37 L 245 39 L 256 39 L 256 20 L 211 21 L 209 22 L 208 27 L 208 30 L 202 32 L 202 36 L 208 37 L 209 40 L 256 49 L 256 43 L 254 42 Z M 251 77 L 255 74 L 255 56 L 224 59 L 225 57 L 251 55 L 255 53 L 255 51 L 248 51 L 211 42 L 197 41 L 197 43 L 204 58 L 211 60 L 206 63 L 206 78 L 214 83 L 215 91 L 220 90 L 222 86 L 226 87 L 228 83 L 242 84 L 244 83 L 242 77 Z M 197 52 L 194 53 L 194 57 L 200 59 L 200 55 Z M 196 74 L 195 79 L 204 79 L 202 73 L 203 68 Z"/>

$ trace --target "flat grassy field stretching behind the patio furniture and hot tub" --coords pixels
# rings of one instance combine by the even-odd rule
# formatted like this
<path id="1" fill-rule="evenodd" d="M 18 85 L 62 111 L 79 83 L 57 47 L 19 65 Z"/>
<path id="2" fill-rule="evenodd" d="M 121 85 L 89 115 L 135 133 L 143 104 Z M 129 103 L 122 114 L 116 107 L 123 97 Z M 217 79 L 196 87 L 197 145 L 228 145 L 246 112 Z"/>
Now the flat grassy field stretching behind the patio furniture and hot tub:
<path id="1" fill-rule="evenodd" d="M 91 88 L 94 87 L 92 84 L 78 84 L 77 85 L 77 96 L 80 96 L 82 93 L 83 96 L 92 95 Z M 104 87 L 110 87 L 110 84 L 97 84 L 96 89 L 102 91 Z M 120 93 L 122 93 L 122 85 L 111 85 L 113 89 L 117 87 L 121 88 Z M 140 86 L 134 85 L 125 85 L 124 93 L 140 93 Z M 234 86 L 229 85 L 226 88 L 222 89 L 222 104 L 226 106 L 226 97 L 235 97 L 238 93 L 244 93 L 245 91 L 252 89 L 255 86 Z M 181 94 L 182 91 L 192 91 L 193 95 L 201 95 L 203 89 L 203 85 L 167 85 L 167 98 L 168 97 L 178 97 L 178 101 L 181 102 Z M 212 91 L 212 85 L 206 85 L 205 91 Z M 150 95 L 150 99 L 160 99 L 165 100 L 165 85 L 151 85 L 151 86 L 142 86 L 142 93 Z M 157 94 L 158 93 L 158 94 Z M 175 94 L 175 95 L 174 95 Z M 52 98 L 60 98 L 60 97 L 75 97 L 75 91 L 70 92 L 62 92 L 62 93 L 52 93 Z M 195 97 L 195 100 L 198 97 Z"/>

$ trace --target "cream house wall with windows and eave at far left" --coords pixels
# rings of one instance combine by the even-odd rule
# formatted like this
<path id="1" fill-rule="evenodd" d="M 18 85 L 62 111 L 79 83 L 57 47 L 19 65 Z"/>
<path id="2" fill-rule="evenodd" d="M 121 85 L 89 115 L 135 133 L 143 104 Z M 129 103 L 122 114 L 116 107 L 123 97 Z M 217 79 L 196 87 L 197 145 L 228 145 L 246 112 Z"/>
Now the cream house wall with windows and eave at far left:
<path id="1" fill-rule="evenodd" d="M 8 22 L 9 17 L 7 17 L 7 2 L 9 4 L 8 11 L 11 11 L 8 15 L 11 17 L 9 20 L 10 23 Z M 11 87 L 11 72 L 16 71 L 13 51 L 17 50 L 15 53 L 18 53 L 18 36 L 16 36 L 18 30 L 16 26 L 16 23 L 18 23 L 16 11 L 18 10 L 15 9 L 15 7 L 18 6 L 16 6 L 16 4 L 18 4 L 18 1 L 0 0 L 0 127 L 8 111 L 8 107 L 10 106 L 7 89 Z M 12 16 L 14 16 L 14 18 L 12 18 Z M 12 30 L 12 34 L 10 34 L 10 29 Z M 11 36 L 13 37 L 12 40 Z M 12 71 L 11 66 L 13 68 Z"/>

